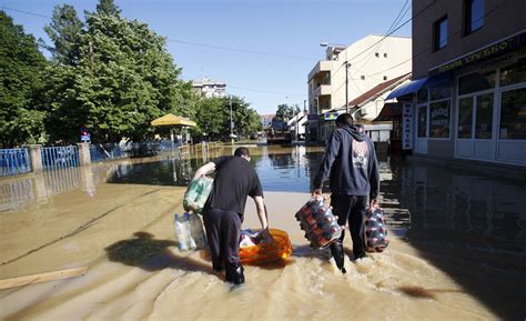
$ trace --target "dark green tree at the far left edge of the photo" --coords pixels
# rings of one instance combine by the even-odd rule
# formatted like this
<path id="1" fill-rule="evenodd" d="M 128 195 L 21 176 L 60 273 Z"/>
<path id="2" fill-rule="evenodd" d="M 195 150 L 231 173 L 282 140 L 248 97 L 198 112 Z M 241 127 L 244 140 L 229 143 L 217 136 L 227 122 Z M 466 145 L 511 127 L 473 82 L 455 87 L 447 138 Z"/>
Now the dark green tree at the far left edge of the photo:
<path id="1" fill-rule="evenodd" d="M 44 112 L 37 108 L 47 61 L 34 37 L 0 11 L 0 139 L 2 147 L 43 138 Z"/>

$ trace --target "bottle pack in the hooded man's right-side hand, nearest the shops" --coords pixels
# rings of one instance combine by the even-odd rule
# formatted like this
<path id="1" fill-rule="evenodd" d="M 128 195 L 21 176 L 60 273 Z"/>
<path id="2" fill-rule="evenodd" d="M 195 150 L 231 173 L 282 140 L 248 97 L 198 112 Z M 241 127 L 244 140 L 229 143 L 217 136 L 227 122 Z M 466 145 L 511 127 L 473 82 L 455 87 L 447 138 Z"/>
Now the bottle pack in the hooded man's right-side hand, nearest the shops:
<path id="1" fill-rule="evenodd" d="M 390 244 L 384 210 L 380 207 L 365 212 L 365 243 L 367 252 L 383 252 Z"/>

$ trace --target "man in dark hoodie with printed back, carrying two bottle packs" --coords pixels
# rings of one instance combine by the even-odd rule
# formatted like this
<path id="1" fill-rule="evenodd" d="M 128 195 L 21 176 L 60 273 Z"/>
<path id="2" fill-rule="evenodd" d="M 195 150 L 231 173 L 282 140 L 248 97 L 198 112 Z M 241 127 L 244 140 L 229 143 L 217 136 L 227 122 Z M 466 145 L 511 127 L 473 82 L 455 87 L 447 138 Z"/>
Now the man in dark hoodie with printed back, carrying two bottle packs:
<path id="1" fill-rule="evenodd" d="M 373 141 L 363 127 L 354 124 L 353 117 L 343 113 L 336 118 L 337 129 L 328 140 L 325 158 L 314 178 L 313 197 L 322 194 L 323 182 L 330 178 L 331 205 L 338 224 L 348 229 L 355 259 L 366 257 L 364 217 L 368 207 L 376 203 L 380 172 Z M 331 244 L 331 253 L 338 269 L 345 273 L 343 239 Z"/>

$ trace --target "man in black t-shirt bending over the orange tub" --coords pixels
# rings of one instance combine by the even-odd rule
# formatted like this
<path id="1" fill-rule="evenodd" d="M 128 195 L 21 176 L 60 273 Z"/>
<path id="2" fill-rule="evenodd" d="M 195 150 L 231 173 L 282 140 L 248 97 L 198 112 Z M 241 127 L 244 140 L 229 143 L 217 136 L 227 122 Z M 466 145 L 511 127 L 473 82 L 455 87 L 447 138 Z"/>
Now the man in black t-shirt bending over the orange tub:
<path id="1" fill-rule="evenodd" d="M 194 179 L 216 171 L 212 192 L 203 210 L 204 227 L 215 271 L 225 269 L 225 280 L 234 284 L 244 283 L 240 262 L 240 233 L 246 197 L 254 199 L 265 242 L 272 242 L 266 221 L 263 188 L 254 168 L 250 164 L 250 152 L 237 148 L 233 157 L 221 157 L 198 169 Z"/>

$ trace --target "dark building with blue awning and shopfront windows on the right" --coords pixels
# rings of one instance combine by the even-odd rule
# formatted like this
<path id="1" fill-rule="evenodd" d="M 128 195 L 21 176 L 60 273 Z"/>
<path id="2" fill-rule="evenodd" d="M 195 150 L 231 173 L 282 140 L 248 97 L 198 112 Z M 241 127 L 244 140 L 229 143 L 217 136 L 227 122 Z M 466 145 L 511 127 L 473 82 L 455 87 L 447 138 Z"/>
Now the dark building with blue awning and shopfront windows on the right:
<path id="1" fill-rule="evenodd" d="M 413 81 L 390 94 L 411 103 L 405 148 L 526 165 L 526 1 L 414 0 L 413 11 Z"/>

